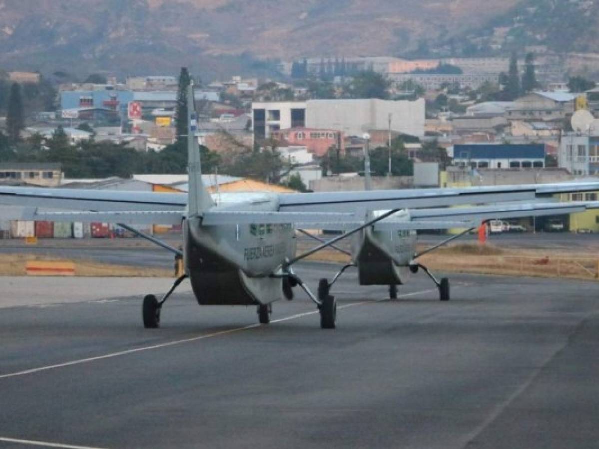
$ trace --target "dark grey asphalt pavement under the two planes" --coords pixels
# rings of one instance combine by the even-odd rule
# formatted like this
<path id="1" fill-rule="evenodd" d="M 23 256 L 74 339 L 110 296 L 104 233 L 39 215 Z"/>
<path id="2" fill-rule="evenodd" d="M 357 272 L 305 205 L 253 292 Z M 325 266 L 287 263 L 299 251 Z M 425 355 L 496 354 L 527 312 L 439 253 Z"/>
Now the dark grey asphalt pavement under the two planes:
<path id="1" fill-rule="evenodd" d="M 315 286 L 335 268 L 306 262 L 297 272 Z M 14 289 L 23 305 L 0 308 L 0 447 L 599 441 L 599 283 L 456 275 L 441 303 L 417 274 L 388 301 L 350 273 L 332 291 L 337 329 L 323 330 L 299 297 L 275 303 L 261 326 L 253 307 L 198 307 L 189 292 L 167 303 L 160 329 L 144 329 L 126 286 L 107 298 L 90 280 L 76 302 L 84 287 L 63 281 L 63 300 L 53 282 L 52 299 Z M 137 294 L 144 280 L 130 282 Z"/>

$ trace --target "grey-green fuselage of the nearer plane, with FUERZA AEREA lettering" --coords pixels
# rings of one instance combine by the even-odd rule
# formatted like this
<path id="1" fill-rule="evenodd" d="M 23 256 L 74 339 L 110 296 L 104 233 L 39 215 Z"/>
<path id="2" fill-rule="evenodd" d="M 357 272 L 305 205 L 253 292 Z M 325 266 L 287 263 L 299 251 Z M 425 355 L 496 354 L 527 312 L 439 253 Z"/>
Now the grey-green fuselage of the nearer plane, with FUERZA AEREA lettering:
<path id="1" fill-rule="evenodd" d="M 213 211 L 276 211 L 275 197 L 215 206 Z M 189 218 L 184 226 L 187 274 L 199 304 L 268 304 L 282 295 L 282 280 L 271 277 L 295 255 L 292 224 L 204 226 Z"/>

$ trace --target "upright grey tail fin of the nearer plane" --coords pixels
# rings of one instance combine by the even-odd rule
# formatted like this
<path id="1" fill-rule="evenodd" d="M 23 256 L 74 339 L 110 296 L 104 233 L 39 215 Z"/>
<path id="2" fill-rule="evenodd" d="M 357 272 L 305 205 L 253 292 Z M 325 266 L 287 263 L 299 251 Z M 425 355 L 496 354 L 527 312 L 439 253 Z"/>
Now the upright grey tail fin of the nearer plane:
<path id="1" fill-rule="evenodd" d="M 202 181 L 202 164 L 199 157 L 198 139 L 195 132 L 198 129 L 198 115 L 195 111 L 193 83 L 187 87 L 187 173 L 189 175 L 187 190 L 187 216 L 198 216 L 204 210 L 214 206 L 212 196 L 204 187 Z"/>

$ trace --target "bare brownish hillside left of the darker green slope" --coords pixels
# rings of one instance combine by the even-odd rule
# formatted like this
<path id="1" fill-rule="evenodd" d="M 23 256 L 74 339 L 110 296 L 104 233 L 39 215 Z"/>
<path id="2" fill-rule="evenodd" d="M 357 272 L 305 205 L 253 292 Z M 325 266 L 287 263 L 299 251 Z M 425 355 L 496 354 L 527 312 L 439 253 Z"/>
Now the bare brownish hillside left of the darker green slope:
<path id="1" fill-rule="evenodd" d="M 485 2 L 486 3 L 486 2 Z M 377 56 L 466 29 L 517 0 L 0 1 L 0 67 L 204 76 L 268 69 L 259 58 Z"/>

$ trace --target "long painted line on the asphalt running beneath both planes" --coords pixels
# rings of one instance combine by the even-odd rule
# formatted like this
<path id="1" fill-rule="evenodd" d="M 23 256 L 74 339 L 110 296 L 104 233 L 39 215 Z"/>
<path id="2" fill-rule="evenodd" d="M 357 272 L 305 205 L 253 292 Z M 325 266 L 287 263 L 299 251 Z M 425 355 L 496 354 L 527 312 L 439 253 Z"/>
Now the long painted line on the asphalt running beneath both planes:
<path id="1" fill-rule="evenodd" d="M 398 298 L 406 298 L 406 297 L 410 297 L 410 296 L 414 296 L 414 295 L 428 293 L 431 291 L 436 291 L 436 289 L 428 289 L 428 290 L 422 290 L 419 292 L 406 293 L 403 295 L 398 295 L 397 297 Z M 382 301 L 382 300 L 378 300 L 378 301 Z M 369 303 L 373 303 L 373 302 L 374 301 L 361 301 L 359 303 L 345 304 L 344 306 L 338 306 L 337 309 L 347 309 L 349 307 L 364 306 L 365 304 L 369 304 Z M 301 318 L 304 316 L 314 315 L 316 313 L 319 313 L 319 311 L 313 310 L 313 311 L 309 311 L 309 312 L 305 312 L 305 313 L 298 313 L 296 315 L 291 315 L 291 316 L 286 316 L 284 318 L 271 320 L 271 323 L 280 323 L 283 321 L 289 321 L 289 320 Z M 250 324 L 248 326 L 243 326 L 241 328 L 228 329 L 226 331 L 214 332 L 213 334 L 198 335 L 197 337 L 184 338 L 183 340 L 168 341 L 167 343 L 158 343 L 158 344 L 153 344 L 151 346 L 144 346 L 144 347 L 135 348 L 135 349 L 128 349 L 126 351 L 113 352 L 113 353 L 104 354 L 101 356 L 73 360 L 70 362 L 63 362 L 62 364 L 40 366 L 40 368 L 32 368 L 32 369 L 25 369 L 23 371 L 9 372 L 8 374 L 1 374 L 0 380 L 7 379 L 9 377 L 17 377 L 17 376 L 25 375 L 25 374 L 33 374 L 34 372 L 49 371 L 50 369 L 56 369 L 56 368 L 64 368 L 65 366 L 80 365 L 80 364 L 85 364 L 88 362 L 95 362 L 95 361 L 103 360 L 103 359 L 111 359 L 113 357 L 134 354 L 137 352 L 149 351 L 152 349 L 161 349 L 161 348 L 168 347 L 168 346 L 175 346 L 177 344 L 190 343 L 192 341 L 205 340 L 205 338 L 220 337 L 221 335 L 233 334 L 234 332 L 240 332 L 240 331 L 247 331 L 247 329 L 258 328 L 260 326 L 262 326 L 262 325 L 258 324 L 258 323 Z"/>

